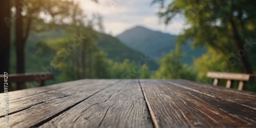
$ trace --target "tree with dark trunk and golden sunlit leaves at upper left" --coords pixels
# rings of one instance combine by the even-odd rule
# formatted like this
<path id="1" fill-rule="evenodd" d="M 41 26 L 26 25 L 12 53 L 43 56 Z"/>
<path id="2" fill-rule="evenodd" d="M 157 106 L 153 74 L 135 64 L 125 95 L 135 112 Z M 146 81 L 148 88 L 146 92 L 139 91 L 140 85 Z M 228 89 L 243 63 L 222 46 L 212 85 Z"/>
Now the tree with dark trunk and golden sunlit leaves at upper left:
<path id="1" fill-rule="evenodd" d="M 44 22 L 42 12 L 46 16 L 51 16 L 50 24 L 48 27 L 42 29 L 48 29 L 54 26 L 53 24 L 61 24 L 69 16 L 69 9 L 74 5 L 72 1 L 40 1 L 40 0 L 16 0 L 15 7 L 15 46 L 16 46 L 16 72 L 25 72 L 25 46 L 26 40 L 29 36 L 30 30 L 35 29 L 32 23 Z M 49 21 L 48 21 L 49 22 Z M 36 30 L 36 29 L 35 29 Z M 37 29 L 38 30 L 38 29 Z"/>

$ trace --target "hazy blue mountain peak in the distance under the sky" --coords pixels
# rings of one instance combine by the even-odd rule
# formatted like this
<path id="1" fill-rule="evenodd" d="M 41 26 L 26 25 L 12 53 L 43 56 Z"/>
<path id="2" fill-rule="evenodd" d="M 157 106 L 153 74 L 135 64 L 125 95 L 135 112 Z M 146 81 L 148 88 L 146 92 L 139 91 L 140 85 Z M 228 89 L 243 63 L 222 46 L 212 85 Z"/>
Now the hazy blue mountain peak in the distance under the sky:
<path id="1" fill-rule="evenodd" d="M 142 26 L 126 30 L 116 37 L 127 46 L 139 50 L 155 60 L 162 58 L 163 53 L 174 50 L 175 39 L 177 38 L 176 35 L 153 31 Z M 182 52 L 185 53 L 182 62 L 188 65 L 193 63 L 193 58 L 200 57 L 206 51 L 203 48 L 193 49 L 188 44 L 184 44 L 182 48 Z"/>

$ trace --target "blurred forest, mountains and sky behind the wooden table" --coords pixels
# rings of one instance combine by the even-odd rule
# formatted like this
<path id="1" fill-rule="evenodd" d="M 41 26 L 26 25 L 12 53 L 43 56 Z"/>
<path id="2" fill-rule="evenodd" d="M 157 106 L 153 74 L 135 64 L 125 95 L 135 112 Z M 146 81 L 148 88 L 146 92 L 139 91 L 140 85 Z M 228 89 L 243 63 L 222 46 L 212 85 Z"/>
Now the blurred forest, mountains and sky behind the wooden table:
<path id="1" fill-rule="evenodd" d="M 0 74 L 53 73 L 47 84 L 86 78 L 212 84 L 209 71 L 256 74 L 256 1 L 2 0 L 0 6 Z M 256 91 L 255 81 L 246 84 Z"/>

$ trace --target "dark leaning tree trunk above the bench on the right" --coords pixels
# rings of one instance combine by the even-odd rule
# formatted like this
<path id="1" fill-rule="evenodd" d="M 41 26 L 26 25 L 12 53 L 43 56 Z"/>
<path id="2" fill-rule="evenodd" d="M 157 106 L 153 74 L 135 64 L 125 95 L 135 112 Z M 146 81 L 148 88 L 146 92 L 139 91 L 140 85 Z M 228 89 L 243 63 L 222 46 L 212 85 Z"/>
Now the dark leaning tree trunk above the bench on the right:
<path id="1" fill-rule="evenodd" d="M 238 50 L 240 50 L 240 49 L 243 50 L 244 49 L 243 48 L 244 41 L 240 38 L 237 26 L 235 25 L 234 20 L 232 19 L 232 17 L 230 17 L 230 23 L 231 23 L 231 26 L 232 26 L 232 29 L 233 29 L 234 40 L 236 42 L 237 49 Z M 244 52 L 246 52 L 246 51 L 244 50 Z M 244 56 L 241 56 L 240 62 L 242 64 L 244 73 L 252 74 L 251 65 L 250 65 L 250 62 L 247 58 L 247 53 L 245 53 Z"/>

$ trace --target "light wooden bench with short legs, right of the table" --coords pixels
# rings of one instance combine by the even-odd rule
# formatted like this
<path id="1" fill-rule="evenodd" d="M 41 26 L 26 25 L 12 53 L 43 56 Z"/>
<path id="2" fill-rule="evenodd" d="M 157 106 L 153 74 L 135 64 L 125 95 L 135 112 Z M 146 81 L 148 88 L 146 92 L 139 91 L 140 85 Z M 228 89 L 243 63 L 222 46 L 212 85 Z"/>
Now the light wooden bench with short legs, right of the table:
<path id="1" fill-rule="evenodd" d="M 239 80 L 238 90 L 244 89 L 246 81 L 255 80 L 255 75 L 243 73 L 208 72 L 207 77 L 214 78 L 214 86 L 218 85 L 219 79 L 227 79 L 226 88 L 232 87 L 233 80 Z"/>

